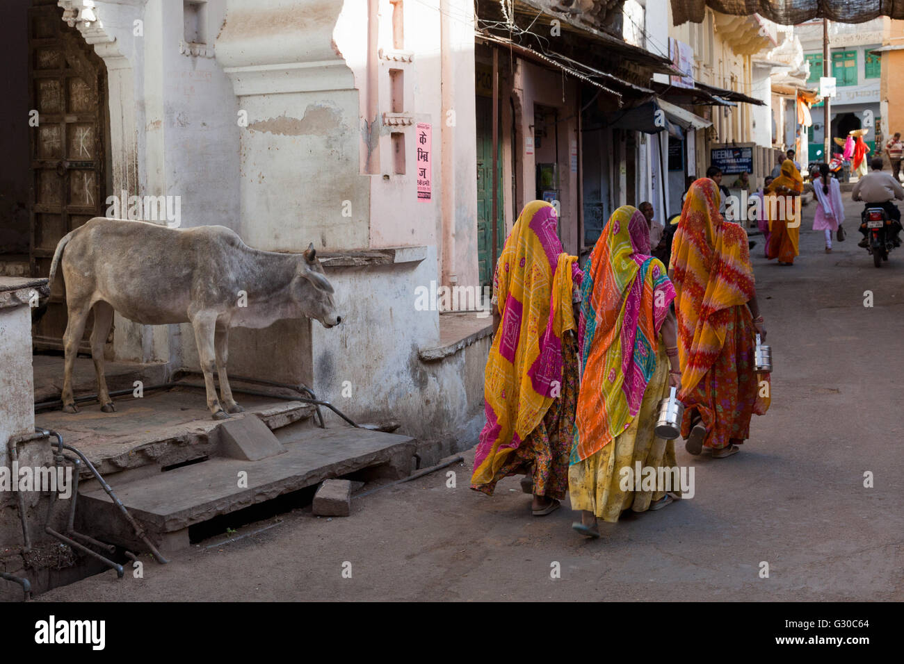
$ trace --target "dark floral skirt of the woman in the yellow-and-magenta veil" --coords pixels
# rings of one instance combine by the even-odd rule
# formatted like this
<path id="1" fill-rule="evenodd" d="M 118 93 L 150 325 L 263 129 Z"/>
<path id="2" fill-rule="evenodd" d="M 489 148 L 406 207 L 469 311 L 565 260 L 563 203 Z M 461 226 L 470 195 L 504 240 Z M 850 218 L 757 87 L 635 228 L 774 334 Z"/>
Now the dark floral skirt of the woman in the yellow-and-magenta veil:
<path id="1" fill-rule="evenodd" d="M 572 332 L 562 339 L 562 391 L 546 411 L 540 424 L 522 441 L 508 461 L 485 484 L 471 488 L 492 496 L 504 477 L 531 474 L 533 493 L 555 500 L 564 500 L 568 491 L 568 463 L 574 429 L 575 409 L 578 405 L 578 342 Z"/>

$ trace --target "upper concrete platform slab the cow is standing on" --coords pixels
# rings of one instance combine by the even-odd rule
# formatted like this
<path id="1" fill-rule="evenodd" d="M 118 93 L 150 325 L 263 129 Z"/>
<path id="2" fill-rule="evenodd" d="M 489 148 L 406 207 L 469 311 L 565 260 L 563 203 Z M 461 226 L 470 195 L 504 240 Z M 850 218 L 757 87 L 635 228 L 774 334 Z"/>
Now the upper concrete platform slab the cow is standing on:
<path id="1" fill-rule="evenodd" d="M 314 412 L 300 401 L 236 397 L 246 412 L 233 417 L 257 416 L 270 429 Z M 101 412 L 96 403 L 80 406 L 79 413 L 39 413 L 35 425 L 59 431 L 65 443 L 78 447 L 104 475 L 149 463 L 184 463 L 217 452 L 219 437 L 213 432 L 223 420 L 211 418 L 202 389 L 147 392 L 142 398 L 120 397 L 114 403 L 115 413 Z"/>

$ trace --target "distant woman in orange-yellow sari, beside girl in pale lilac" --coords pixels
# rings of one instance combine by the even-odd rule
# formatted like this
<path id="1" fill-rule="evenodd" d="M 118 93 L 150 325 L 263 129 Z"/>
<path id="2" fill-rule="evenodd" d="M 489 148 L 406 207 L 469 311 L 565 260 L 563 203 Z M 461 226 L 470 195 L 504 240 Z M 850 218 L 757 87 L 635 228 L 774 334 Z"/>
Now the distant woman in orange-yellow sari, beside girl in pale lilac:
<path id="1" fill-rule="evenodd" d="M 800 195 L 804 178 L 790 159 L 782 163 L 781 174 L 766 188 L 763 204 L 769 220 L 766 257 L 778 258 L 778 265 L 794 265 L 800 253 Z"/>

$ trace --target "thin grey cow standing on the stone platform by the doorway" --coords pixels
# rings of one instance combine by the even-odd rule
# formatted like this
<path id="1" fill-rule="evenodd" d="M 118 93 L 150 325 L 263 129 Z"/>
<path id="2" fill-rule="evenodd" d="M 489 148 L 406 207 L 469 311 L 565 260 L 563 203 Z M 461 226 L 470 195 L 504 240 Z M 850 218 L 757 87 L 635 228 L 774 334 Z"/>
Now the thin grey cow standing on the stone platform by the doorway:
<path id="1" fill-rule="evenodd" d="M 72 367 L 92 308 L 91 354 L 105 413 L 114 410 L 103 355 L 114 310 L 146 325 L 192 323 L 214 419 L 229 417 L 223 407 L 229 413 L 242 410 L 226 378 L 231 327 L 263 328 L 302 316 L 327 328 L 342 322 L 313 244 L 303 254 L 260 251 L 223 226 L 169 229 L 146 221 L 95 217 L 60 240 L 51 283 L 58 266 L 69 308 L 62 388 L 62 409 L 68 413 L 78 411 Z M 240 298 L 247 306 L 239 305 Z M 222 407 L 214 369 L 220 376 Z"/>

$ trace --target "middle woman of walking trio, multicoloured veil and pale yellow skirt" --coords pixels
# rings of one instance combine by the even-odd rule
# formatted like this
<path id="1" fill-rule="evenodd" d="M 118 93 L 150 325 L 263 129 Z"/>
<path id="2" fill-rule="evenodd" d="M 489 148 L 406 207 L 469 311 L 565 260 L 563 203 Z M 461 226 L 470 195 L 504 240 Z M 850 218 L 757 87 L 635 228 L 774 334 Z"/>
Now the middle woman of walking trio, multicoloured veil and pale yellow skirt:
<path id="1" fill-rule="evenodd" d="M 654 434 L 660 399 L 669 388 L 681 388 L 673 297 L 665 266 L 650 256 L 644 215 L 618 208 L 581 286 L 581 381 L 569 491 L 571 509 L 581 510 L 572 528 L 589 538 L 599 537 L 597 519 L 615 522 L 623 510 L 658 510 L 673 500 L 664 487 L 633 491 L 636 482 L 625 482 L 626 469 L 630 476 L 638 465 L 677 465 L 674 441 Z"/>

